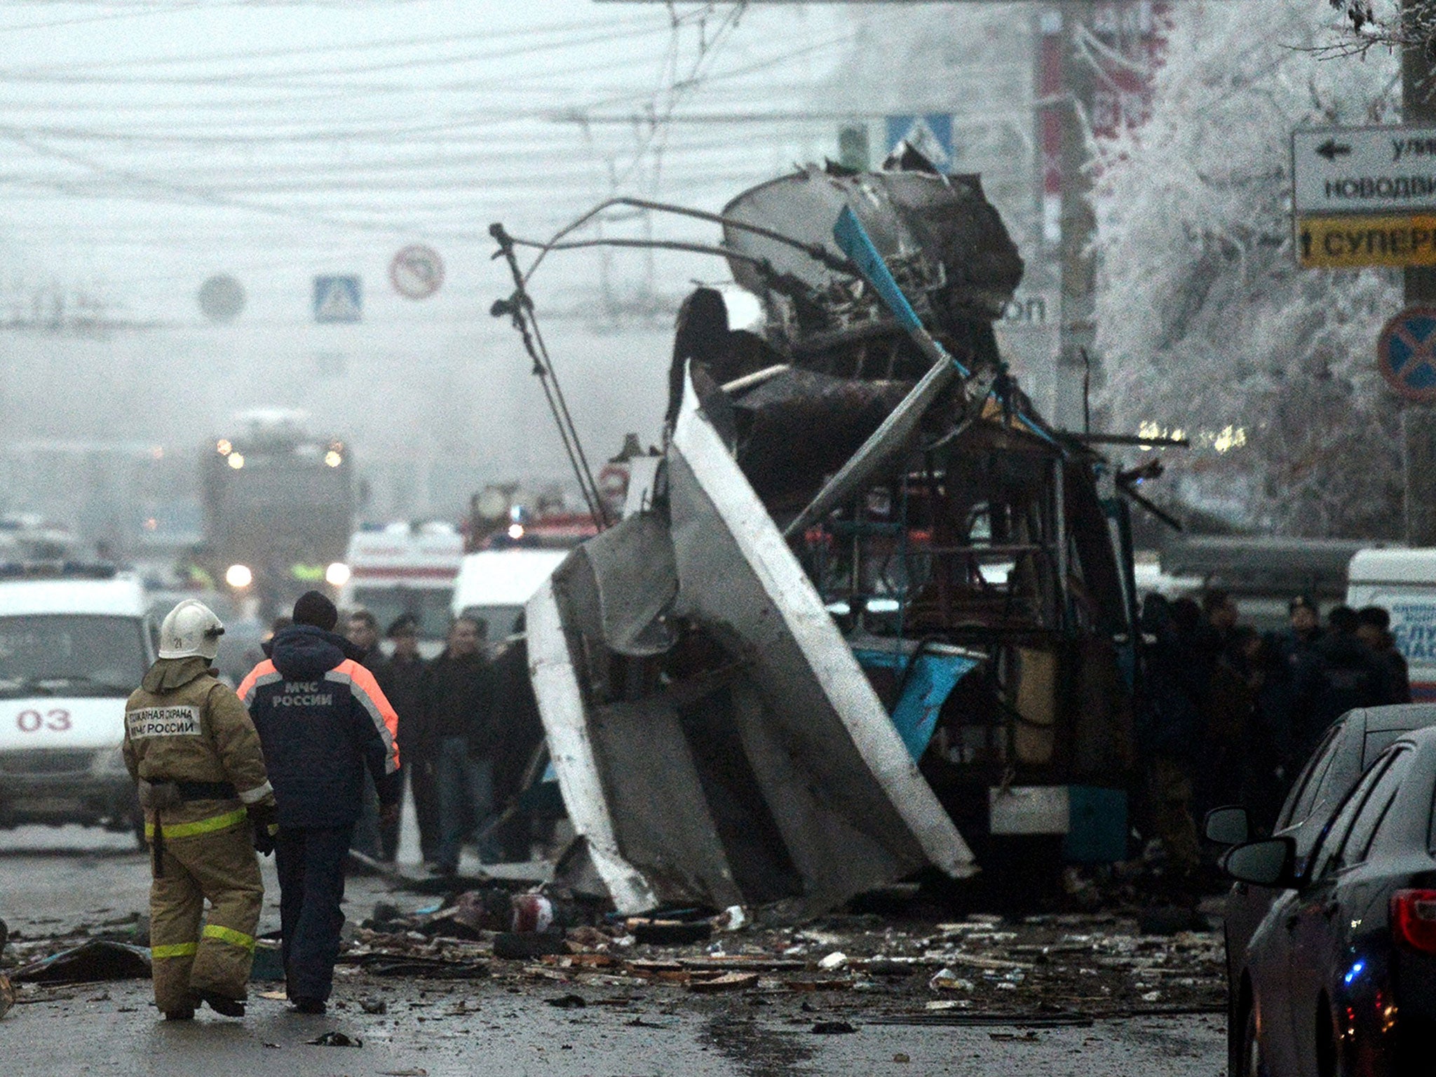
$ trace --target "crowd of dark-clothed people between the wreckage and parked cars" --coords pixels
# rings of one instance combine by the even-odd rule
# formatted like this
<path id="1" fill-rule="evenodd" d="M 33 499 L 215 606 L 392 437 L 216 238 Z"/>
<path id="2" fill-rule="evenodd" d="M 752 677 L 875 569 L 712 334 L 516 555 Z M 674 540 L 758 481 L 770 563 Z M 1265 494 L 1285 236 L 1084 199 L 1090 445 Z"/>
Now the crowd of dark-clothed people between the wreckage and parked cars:
<path id="1" fill-rule="evenodd" d="M 1261 633 L 1215 589 L 1199 600 L 1143 602 L 1147 807 L 1178 887 L 1200 872 L 1195 820 L 1206 810 L 1242 804 L 1269 830 L 1331 722 L 1353 708 L 1412 699 L 1387 610 L 1333 606 L 1323 626 L 1315 602 L 1298 595 L 1288 616 L 1284 630 Z"/>

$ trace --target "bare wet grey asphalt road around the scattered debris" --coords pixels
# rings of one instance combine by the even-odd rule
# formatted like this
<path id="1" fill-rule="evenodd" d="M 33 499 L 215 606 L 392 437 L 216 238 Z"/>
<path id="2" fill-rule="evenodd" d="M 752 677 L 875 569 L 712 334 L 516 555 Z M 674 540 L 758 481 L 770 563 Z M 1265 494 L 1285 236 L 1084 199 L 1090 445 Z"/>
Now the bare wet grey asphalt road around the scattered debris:
<path id="1" fill-rule="evenodd" d="M 129 839 L 79 829 L 0 833 L 0 918 L 23 935 L 142 910 L 148 867 Z M 261 929 L 277 926 L 277 887 Z M 355 877 L 349 916 L 368 915 L 386 895 L 379 880 Z M 205 1011 L 192 1024 L 167 1024 L 146 981 L 30 989 L 3 1020 L 4 1071 L 208 1077 L 244 1074 L 1014 1074 L 1032 1077 L 1218 1077 L 1225 1032 L 1218 1017 L 1132 1018 L 1088 1028 L 1018 1030 L 864 1024 L 857 999 L 791 1001 L 696 998 L 675 992 L 630 995 L 607 1005 L 592 991 L 582 1010 L 549 1005 L 567 988 L 503 981 L 375 982 L 340 975 L 326 1017 L 302 1017 L 279 999 L 251 994 L 243 1022 Z M 366 1014 L 359 999 L 383 1001 Z M 816 1020 L 843 1018 L 856 1031 L 820 1035 Z M 342 1031 L 363 1047 L 309 1045 Z"/>

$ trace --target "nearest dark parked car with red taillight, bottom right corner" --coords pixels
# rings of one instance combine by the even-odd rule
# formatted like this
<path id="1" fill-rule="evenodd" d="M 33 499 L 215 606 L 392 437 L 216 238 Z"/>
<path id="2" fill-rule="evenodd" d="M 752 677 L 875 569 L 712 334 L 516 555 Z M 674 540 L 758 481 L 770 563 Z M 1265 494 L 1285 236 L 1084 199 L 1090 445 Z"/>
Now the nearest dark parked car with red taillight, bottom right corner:
<path id="1" fill-rule="evenodd" d="M 1226 872 L 1277 887 L 1245 951 L 1236 1077 L 1430 1073 L 1436 1050 L 1436 728 L 1387 747 L 1302 864 L 1292 834 Z"/>

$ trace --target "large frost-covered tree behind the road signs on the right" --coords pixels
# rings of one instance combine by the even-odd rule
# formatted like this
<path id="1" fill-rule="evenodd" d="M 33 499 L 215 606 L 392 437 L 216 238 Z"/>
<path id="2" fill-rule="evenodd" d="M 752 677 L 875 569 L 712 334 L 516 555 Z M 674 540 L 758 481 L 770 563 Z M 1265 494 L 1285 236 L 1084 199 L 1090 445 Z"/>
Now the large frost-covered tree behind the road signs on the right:
<path id="1" fill-rule="evenodd" d="M 1396 60 L 1323 59 L 1333 13 L 1311 0 L 1170 10 L 1150 121 L 1099 148 L 1097 404 L 1116 428 L 1219 434 L 1165 454 L 1189 504 L 1287 534 L 1394 534 L 1400 402 L 1376 336 L 1400 279 L 1297 269 L 1290 134 L 1394 122 Z"/>

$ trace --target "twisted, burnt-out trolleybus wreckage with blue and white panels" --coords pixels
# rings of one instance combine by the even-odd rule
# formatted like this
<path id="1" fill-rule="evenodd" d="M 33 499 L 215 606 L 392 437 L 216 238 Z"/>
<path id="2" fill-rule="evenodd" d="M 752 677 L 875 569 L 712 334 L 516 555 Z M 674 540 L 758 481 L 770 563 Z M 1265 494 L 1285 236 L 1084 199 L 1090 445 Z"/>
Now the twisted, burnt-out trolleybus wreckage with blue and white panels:
<path id="1" fill-rule="evenodd" d="M 1122 859 L 1132 475 L 1008 376 L 992 323 L 1022 261 L 978 177 L 909 154 L 722 214 L 638 204 L 721 224 L 659 246 L 725 257 L 763 319 L 685 300 L 662 454 L 617 521 L 589 480 L 600 534 L 528 603 L 579 836 L 560 872 L 625 912 L 820 912 L 928 866 L 1025 886 Z M 493 228 L 517 284 L 494 313 L 570 452 L 514 247 L 645 243 L 566 238 L 607 205 L 547 244 Z"/>

